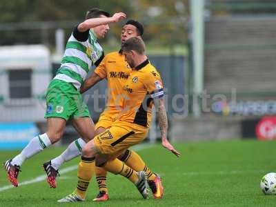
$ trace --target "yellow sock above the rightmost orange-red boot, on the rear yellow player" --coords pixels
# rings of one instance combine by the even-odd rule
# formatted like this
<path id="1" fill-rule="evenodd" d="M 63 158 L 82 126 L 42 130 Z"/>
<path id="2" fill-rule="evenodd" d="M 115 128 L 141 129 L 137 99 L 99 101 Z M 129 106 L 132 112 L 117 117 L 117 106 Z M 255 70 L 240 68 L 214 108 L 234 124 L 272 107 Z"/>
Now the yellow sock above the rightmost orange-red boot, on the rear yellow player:
<path id="1" fill-rule="evenodd" d="M 156 177 L 155 174 L 150 170 L 150 168 L 146 166 L 143 159 L 141 159 L 141 157 L 135 151 L 126 150 L 124 155 L 121 157 L 121 161 L 124 161 L 128 166 L 130 166 L 130 168 L 136 170 L 137 172 L 145 171 L 148 180 L 154 180 Z"/>

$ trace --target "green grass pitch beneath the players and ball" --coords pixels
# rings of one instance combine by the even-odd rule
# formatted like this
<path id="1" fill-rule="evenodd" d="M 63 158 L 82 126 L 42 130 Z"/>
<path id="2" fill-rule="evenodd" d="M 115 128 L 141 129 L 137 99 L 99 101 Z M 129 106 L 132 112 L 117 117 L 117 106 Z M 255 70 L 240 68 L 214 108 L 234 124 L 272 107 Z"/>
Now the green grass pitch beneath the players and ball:
<path id="1" fill-rule="evenodd" d="M 96 204 L 95 178 L 90 184 L 87 201 L 62 206 L 274 206 L 275 196 L 263 195 L 260 179 L 275 172 L 275 141 L 202 141 L 175 144 L 181 158 L 166 152 L 160 145 L 139 151 L 148 166 L 163 177 L 164 199 L 141 199 L 136 188 L 124 177 L 108 175 L 110 200 Z M 19 181 L 43 174 L 43 161 L 59 155 L 63 148 L 50 148 L 26 161 Z M 17 152 L 0 152 L 4 161 Z M 63 168 L 76 165 L 70 161 Z M 8 185 L 3 168 L 0 188 Z M 0 192 L 0 206 L 61 206 L 57 199 L 72 193 L 77 172 L 61 175 L 58 188 L 48 188 L 46 181 L 10 188 Z M 63 178 L 63 179 L 61 179 Z"/>

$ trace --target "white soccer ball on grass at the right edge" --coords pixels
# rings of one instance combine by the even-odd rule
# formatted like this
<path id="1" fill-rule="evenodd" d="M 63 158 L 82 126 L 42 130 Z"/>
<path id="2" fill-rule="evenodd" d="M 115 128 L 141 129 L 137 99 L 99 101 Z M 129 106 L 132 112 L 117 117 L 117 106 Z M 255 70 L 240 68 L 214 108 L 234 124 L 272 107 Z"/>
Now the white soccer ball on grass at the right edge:
<path id="1" fill-rule="evenodd" d="M 276 195 L 276 173 L 270 172 L 264 175 L 259 186 L 265 195 Z"/>

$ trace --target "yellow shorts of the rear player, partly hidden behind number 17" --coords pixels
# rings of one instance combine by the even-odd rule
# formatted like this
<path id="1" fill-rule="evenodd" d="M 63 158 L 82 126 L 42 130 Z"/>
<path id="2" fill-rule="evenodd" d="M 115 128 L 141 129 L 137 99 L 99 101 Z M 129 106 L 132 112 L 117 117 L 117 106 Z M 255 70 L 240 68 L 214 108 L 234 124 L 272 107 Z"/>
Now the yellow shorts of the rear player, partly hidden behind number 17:
<path id="1" fill-rule="evenodd" d="M 95 130 L 97 128 L 110 128 L 112 123 L 118 118 L 121 110 L 118 108 L 106 108 L 101 115 L 99 116 L 99 121 L 95 126 Z"/>

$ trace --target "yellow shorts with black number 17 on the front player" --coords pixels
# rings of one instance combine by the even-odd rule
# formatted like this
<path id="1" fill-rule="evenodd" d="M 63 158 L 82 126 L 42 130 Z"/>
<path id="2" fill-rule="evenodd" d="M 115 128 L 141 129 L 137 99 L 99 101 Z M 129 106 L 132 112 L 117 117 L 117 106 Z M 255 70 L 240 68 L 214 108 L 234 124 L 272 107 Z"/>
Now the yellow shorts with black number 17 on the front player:
<path id="1" fill-rule="evenodd" d="M 130 146 L 143 141 L 147 134 L 148 128 L 144 126 L 126 121 L 115 121 L 110 128 L 97 135 L 94 140 L 101 154 L 117 157 Z"/>

